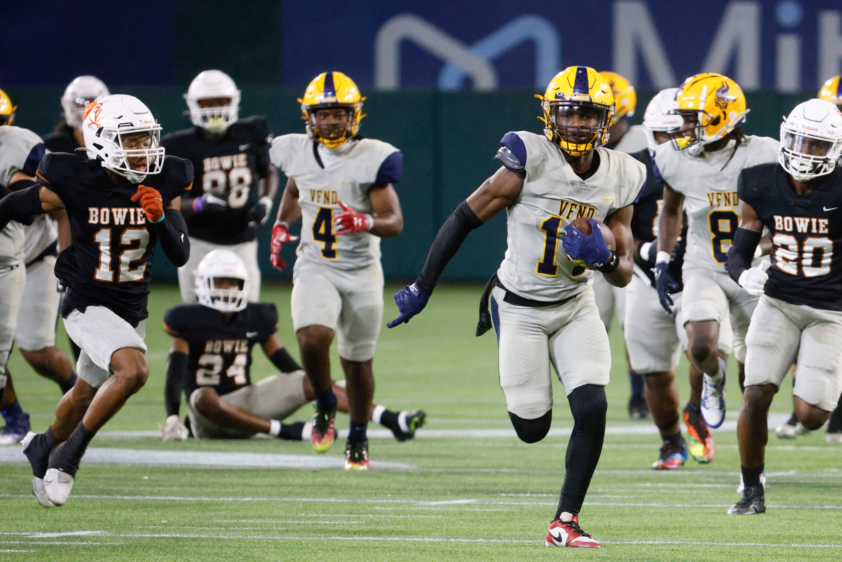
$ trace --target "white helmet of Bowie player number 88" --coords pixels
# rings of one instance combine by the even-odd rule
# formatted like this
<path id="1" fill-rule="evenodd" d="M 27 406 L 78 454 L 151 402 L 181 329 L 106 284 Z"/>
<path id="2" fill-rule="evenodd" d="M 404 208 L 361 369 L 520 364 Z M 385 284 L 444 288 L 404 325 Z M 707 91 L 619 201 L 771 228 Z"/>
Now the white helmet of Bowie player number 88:
<path id="1" fill-rule="evenodd" d="M 218 107 L 201 107 L 203 99 L 227 98 L 228 103 Z M 197 127 L 213 133 L 222 133 L 232 126 L 239 116 L 240 90 L 237 84 L 221 70 L 205 70 L 193 78 L 184 94 L 190 120 Z"/>

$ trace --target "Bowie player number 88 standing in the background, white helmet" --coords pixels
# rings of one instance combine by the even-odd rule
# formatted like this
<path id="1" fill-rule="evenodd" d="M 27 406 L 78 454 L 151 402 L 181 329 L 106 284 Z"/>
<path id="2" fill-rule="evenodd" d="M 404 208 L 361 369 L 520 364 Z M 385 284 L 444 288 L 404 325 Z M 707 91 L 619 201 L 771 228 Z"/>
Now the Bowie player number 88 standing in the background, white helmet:
<path id="1" fill-rule="evenodd" d="M 278 172 L 269 163 L 272 133 L 261 115 L 239 118 L 240 90 L 225 72 L 206 70 L 184 94 L 193 127 L 161 140 L 167 153 L 187 158 L 196 177 L 181 199 L 190 231 L 190 259 L 179 268 L 184 302 L 196 302 L 195 271 L 217 248 L 230 249 L 248 267 L 248 300 L 260 297 L 255 232 L 269 220 Z"/>

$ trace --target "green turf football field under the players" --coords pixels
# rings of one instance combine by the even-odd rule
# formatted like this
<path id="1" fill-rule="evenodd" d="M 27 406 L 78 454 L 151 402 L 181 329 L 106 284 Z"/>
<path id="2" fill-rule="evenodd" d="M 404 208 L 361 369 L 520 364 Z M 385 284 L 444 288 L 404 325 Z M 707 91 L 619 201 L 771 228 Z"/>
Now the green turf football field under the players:
<path id="1" fill-rule="evenodd" d="M 386 287 L 386 320 L 397 311 L 391 297 L 396 288 Z M 266 286 L 264 298 L 278 304 L 280 338 L 297 356 L 289 292 L 288 286 Z M 480 292 L 477 286 L 442 287 L 410 324 L 384 328 L 375 361 L 377 402 L 392 409 L 424 408 L 429 415 L 425 429 L 431 431 L 510 429 L 498 388 L 493 333 L 473 335 Z M 400 465 L 363 474 L 338 468 L 225 467 L 301 463 L 302 458 L 323 462 L 309 443 L 130 438 L 120 432 L 157 430 L 163 423 L 168 336 L 161 318 L 177 302 L 176 287 L 153 287 L 149 382 L 105 426 L 88 458 L 93 453 L 141 463 L 182 458 L 184 463 L 83 461 L 71 500 L 51 510 L 29 495 L 28 465 L 0 463 L 0 559 L 842 559 L 842 447 L 825 445 L 821 431 L 796 442 L 780 442 L 773 434 L 766 463 L 768 511 L 727 516 L 727 506 L 738 499 L 734 431 L 716 432 L 717 457 L 710 465 L 690 460 L 676 472 L 649 469 L 660 443 L 657 435 L 644 432 L 651 422 L 627 419 L 628 381 L 617 329 L 611 338 L 616 361 L 608 387 L 609 434 L 581 513 L 583 527 L 603 542 L 599 551 L 544 546 L 564 476 L 566 431 L 534 445 L 507 436 L 460 437 L 458 431 L 428 437 L 421 431 L 410 443 L 372 438 L 373 461 Z M 60 341 L 67 345 L 63 331 Z M 255 358 L 255 378 L 273 372 L 259 350 Z M 33 426 L 44 431 L 58 389 L 26 367 L 17 352 L 10 369 Z M 686 366 L 679 372 L 684 401 Z M 341 378 L 337 367 L 334 377 Z M 728 418 L 733 420 L 740 398 L 736 377 L 728 388 Z M 570 428 L 560 384 L 556 391 L 553 426 Z M 780 418 L 790 408 L 787 381 L 772 409 Z M 306 406 L 294 417 L 311 415 Z M 338 426 L 344 429 L 347 423 L 347 416 L 340 415 Z M 328 457 L 338 462 L 343 450 L 344 442 L 338 442 Z M 4 453 L 0 448 L 0 458 Z"/>

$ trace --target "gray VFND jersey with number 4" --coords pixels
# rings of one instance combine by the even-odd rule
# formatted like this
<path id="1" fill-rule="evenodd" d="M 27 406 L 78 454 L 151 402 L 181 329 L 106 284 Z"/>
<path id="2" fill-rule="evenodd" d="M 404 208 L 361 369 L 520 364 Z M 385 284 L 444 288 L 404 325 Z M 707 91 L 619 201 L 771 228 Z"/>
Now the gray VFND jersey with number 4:
<path id="1" fill-rule="evenodd" d="M 371 212 L 369 190 L 381 164 L 398 150 L 388 142 L 361 138 L 345 142 L 322 161 L 316 147 L 309 136 L 290 134 L 276 136 L 269 150 L 272 163 L 298 186 L 298 260 L 340 270 L 367 267 L 380 260 L 380 237 L 366 232 L 337 236 L 333 217 L 342 211 L 338 201 Z"/>

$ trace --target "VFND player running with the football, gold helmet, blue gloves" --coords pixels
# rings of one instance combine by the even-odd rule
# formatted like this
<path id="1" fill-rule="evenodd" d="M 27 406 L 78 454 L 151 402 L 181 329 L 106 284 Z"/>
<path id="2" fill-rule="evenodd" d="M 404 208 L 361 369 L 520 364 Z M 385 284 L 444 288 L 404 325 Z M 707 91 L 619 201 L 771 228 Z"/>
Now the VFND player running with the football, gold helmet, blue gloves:
<path id="1" fill-rule="evenodd" d="M 500 386 L 522 441 L 541 441 L 550 430 L 551 364 L 564 384 L 574 426 L 546 545 L 596 548 L 600 543 L 579 527 L 578 513 L 602 452 L 611 355 L 592 270 L 614 286 L 632 280 L 632 203 L 646 167 L 604 147 L 615 102 L 593 68 L 568 67 L 538 97 L 544 135 L 506 133 L 495 156 L 503 166 L 441 227 L 418 279 L 395 294 L 400 316 L 388 325 L 420 313 L 467 235 L 507 211 L 508 249 L 483 295 L 477 334 L 491 324 L 497 332 Z M 573 221 L 593 232 L 580 232 Z M 615 247 L 606 243 L 604 228 Z"/>

